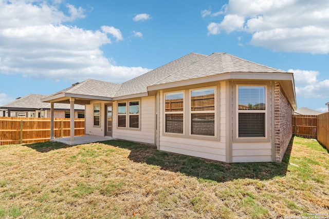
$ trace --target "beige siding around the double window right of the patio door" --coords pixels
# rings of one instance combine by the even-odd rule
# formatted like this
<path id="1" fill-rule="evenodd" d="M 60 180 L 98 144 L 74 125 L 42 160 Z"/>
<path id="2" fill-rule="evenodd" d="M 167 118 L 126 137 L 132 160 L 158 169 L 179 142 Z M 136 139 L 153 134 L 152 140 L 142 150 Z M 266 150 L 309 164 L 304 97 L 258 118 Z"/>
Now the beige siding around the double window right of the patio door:
<path id="1" fill-rule="evenodd" d="M 129 99 L 128 101 L 134 101 Z M 120 101 L 119 101 L 120 102 Z M 155 96 L 142 97 L 140 99 L 140 129 L 118 128 L 117 127 L 117 105 L 113 103 L 113 138 L 142 142 L 155 143 Z"/>

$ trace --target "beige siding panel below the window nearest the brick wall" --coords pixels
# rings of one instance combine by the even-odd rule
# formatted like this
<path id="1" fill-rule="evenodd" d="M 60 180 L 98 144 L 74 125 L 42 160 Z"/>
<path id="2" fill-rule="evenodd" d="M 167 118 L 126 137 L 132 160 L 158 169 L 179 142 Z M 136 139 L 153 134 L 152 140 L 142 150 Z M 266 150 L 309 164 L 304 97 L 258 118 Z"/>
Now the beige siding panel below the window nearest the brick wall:
<path id="1" fill-rule="evenodd" d="M 271 162 L 270 142 L 233 143 L 232 162 Z"/>

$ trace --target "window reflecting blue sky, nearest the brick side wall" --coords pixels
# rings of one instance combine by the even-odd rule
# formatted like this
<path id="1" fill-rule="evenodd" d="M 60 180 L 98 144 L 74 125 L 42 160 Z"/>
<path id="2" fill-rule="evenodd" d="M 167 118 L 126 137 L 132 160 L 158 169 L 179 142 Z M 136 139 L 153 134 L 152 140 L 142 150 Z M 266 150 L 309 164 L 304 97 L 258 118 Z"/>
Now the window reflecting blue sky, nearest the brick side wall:
<path id="1" fill-rule="evenodd" d="M 237 86 L 238 136 L 266 137 L 266 86 Z"/>

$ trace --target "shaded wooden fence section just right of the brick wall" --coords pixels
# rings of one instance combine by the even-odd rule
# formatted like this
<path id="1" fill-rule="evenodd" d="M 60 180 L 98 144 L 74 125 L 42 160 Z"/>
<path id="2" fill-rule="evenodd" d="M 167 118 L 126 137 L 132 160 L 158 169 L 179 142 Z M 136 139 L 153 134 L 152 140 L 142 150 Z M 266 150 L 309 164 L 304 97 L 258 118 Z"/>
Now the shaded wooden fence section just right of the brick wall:
<path id="1" fill-rule="evenodd" d="M 293 133 L 295 136 L 317 139 L 317 116 L 293 115 Z"/>

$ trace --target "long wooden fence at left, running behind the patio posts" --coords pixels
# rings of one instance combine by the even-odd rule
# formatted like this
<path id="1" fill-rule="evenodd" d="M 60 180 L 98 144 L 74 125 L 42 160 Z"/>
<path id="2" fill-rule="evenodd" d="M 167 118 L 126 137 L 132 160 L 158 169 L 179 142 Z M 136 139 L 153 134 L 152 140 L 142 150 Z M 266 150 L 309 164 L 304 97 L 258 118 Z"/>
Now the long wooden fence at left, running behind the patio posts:
<path id="1" fill-rule="evenodd" d="M 70 119 L 54 118 L 54 137 L 70 136 Z M 84 118 L 75 118 L 75 136 L 84 135 Z M 50 140 L 50 118 L 0 117 L 0 145 Z"/>

